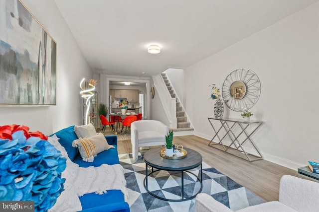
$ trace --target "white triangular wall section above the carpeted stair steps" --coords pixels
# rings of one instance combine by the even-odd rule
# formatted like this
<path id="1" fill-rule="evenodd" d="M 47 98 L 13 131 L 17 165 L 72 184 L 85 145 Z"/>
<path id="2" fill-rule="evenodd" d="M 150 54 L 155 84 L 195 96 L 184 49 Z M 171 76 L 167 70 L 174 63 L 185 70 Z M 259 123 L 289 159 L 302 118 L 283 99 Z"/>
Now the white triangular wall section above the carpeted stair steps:
<path id="1" fill-rule="evenodd" d="M 171 85 L 173 86 L 174 92 L 178 96 L 179 101 L 182 103 L 182 105 L 185 105 L 184 70 L 169 68 L 164 72 L 169 78 L 169 81 L 171 82 Z"/>

